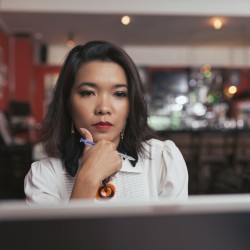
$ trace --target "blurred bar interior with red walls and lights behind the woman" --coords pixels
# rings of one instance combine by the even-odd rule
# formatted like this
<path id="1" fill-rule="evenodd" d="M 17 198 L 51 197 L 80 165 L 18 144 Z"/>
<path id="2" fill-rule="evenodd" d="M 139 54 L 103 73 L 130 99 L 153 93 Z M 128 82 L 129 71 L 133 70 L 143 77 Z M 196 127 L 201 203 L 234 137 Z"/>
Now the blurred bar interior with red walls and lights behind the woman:
<path id="1" fill-rule="evenodd" d="M 23 199 L 65 55 L 101 39 L 138 66 L 149 125 L 180 148 L 192 195 L 250 192 L 250 2 L 1 0 L 0 199 Z"/>

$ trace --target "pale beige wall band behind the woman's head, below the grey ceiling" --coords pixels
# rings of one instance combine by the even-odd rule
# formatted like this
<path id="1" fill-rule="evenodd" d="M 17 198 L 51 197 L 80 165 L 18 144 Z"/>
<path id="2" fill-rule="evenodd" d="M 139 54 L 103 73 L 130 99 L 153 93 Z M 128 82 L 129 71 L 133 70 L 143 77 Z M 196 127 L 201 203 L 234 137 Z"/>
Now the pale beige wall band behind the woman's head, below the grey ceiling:
<path id="1" fill-rule="evenodd" d="M 124 49 L 140 66 L 200 67 L 250 67 L 250 47 L 204 46 L 125 46 Z M 69 49 L 50 45 L 48 64 L 61 65 Z"/>

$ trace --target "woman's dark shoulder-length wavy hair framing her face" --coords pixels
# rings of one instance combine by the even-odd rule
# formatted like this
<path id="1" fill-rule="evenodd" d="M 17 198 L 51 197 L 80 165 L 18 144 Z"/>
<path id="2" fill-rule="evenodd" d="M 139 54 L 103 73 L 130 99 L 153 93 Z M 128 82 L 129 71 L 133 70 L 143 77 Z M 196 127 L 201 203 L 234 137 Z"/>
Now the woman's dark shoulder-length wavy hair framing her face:
<path id="1" fill-rule="evenodd" d="M 147 124 L 147 104 L 143 85 L 128 54 L 106 41 L 90 41 L 74 47 L 68 53 L 43 123 L 42 141 L 45 152 L 50 157 L 64 158 L 65 144 L 71 135 L 71 89 L 80 66 L 94 60 L 115 62 L 125 71 L 128 81 L 129 116 L 121 143 L 126 153 L 145 155 L 143 142 L 157 136 Z"/>

